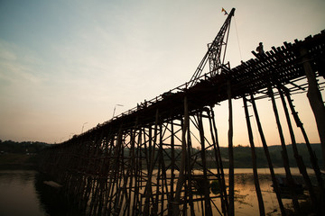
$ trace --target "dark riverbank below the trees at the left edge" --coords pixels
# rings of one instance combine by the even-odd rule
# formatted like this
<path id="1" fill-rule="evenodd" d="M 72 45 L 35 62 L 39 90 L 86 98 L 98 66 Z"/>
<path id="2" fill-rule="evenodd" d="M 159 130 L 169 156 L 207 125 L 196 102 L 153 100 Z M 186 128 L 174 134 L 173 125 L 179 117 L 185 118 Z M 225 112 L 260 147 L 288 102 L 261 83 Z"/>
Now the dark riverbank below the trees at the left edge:
<path id="1" fill-rule="evenodd" d="M 0 170 L 4 169 L 36 169 L 36 155 L 5 153 L 0 155 Z"/>

